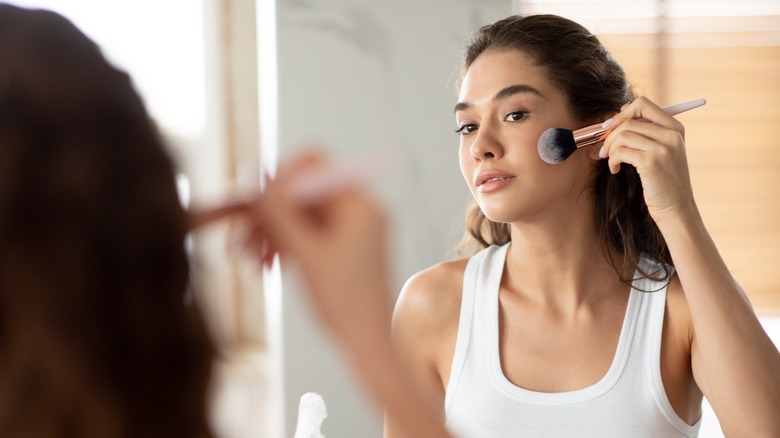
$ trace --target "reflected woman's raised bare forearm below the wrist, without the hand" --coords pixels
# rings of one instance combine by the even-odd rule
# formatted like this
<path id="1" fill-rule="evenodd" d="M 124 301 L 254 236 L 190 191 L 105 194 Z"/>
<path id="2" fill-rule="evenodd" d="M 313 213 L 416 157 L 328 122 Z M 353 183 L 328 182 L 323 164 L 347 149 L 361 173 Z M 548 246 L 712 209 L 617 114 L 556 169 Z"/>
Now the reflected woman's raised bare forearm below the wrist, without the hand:
<path id="1" fill-rule="evenodd" d="M 695 206 L 659 227 L 691 311 L 693 375 L 721 427 L 728 436 L 780 436 L 780 354 Z"/>

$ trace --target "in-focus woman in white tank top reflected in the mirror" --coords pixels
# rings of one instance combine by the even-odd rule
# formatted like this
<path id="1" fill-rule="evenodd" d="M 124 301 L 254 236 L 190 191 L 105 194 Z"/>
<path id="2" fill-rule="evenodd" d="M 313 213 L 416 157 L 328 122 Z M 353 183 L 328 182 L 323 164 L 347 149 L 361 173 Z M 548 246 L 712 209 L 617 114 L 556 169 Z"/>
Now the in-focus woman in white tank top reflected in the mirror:
<path id="1" fill-rule="evenodd" d="M 780 354 L 702 223 L 680 122 L 557 16 L 483 27 L 463 72 L 467 230 L 484 249 L 412 277 L 393 329 L 440 421 L 461 437 L 689 437 L 703 394 L 727 435 L 780 436 Z M 546 129 L 607 119 L 603 144 L 540 159 Z"/>

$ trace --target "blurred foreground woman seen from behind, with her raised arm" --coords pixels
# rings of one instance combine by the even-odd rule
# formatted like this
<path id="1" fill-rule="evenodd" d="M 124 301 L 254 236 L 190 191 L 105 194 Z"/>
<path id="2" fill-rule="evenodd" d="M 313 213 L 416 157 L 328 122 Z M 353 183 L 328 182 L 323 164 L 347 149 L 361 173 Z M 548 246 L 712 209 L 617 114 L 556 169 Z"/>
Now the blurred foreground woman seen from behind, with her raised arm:
<path id="1" fill-rule="evenodd" d="M 404 433 L 445 436 L 390 348 L 373 202 L 344 190 L 299 208 L 281 188 L 325 166 L 304 158 L 261 199 L 190 215 L 130 78 L 69 21 L 0 4 L 0 59 L 0 436 L 212 436 L 214 347 L 184 240 L 231 216 L 299 262 L 314 309 Z"/>

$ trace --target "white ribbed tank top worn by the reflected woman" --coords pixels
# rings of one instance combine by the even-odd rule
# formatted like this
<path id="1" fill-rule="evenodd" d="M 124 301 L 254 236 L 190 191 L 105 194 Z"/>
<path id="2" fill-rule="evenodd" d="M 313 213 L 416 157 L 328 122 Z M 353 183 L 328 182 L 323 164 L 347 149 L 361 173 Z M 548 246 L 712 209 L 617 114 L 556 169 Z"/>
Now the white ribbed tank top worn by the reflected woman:
<path id="1" fill-rule="evenodd" d="M 612 365 L 595 384 L 548 393 L 511 383 L 501 370 L 498 341 L 508 247 L 485 248 L 466 267 L 444 405 L 447 428 L 459 438 L 697 436 L 701 420 L 689 426 L 678 417 L 661 382 L 664 283 L 634 282 Z M 645 272 L 660 267 L 641 263 Z"/>

